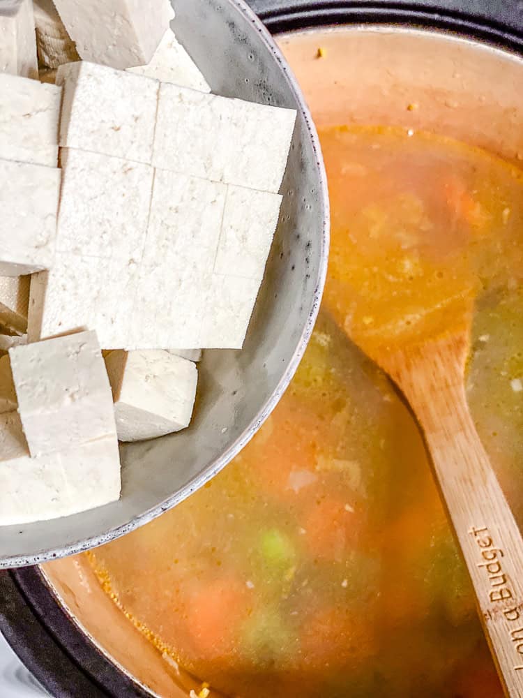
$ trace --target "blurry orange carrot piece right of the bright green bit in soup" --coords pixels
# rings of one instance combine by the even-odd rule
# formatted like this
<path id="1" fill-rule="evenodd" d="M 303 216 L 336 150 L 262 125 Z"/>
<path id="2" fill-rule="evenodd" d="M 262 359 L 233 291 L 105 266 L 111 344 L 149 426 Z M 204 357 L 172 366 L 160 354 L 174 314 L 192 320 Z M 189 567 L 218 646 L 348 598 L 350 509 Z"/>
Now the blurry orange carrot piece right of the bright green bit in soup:
<path id="1" fill-rule="evenodd" d="M 361 517 L 342 500 L 321 499 L 305 521 L 305 539 L 312 555 L 340 560 L 361 531 Z"/>

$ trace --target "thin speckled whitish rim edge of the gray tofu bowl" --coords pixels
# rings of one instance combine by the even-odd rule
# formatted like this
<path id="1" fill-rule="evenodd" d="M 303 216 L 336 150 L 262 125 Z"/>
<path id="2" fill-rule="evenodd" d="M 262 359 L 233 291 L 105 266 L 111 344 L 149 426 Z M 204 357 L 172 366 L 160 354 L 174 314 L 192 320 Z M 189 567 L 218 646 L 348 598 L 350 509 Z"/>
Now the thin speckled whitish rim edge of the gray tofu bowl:
<path id="1" fill-rule="evenodd" d="M 145 523 L 153 521 L 153 519 L 156 519 L 164 512 L 167 512 L 169 509 L 172 509 L 177 504 L 181 503 L 181 501 L 186 499 L 193 492 L 197 491 L 197 489 L 203 487 L 204 484 L 206 484 L 206 482 L 212 480 L 212 478 L 215 477 L 215 475 L 218 475 L 220 470 L 225 468 L 225 466 L 227 466 L 227 464 L 230 463 L 232 459 L 234 459 L 234 456 L 236 456 L 243 449 L 243 447 L 245 447 L 245 445 L 248 444 L 252 436 L 254 436 L 255 433 L 257 433 L 261 424 L 263 424 L 267 417 L 271 415 L 271 412 L 278 404 L 278 401 L 280 401 L 282 394 L 285 392 L 285 389 L 287 389 L 289 383 L 291 382 L 291 379 L 294 376 L 294 373 L 296 373 L 296 369 L 298 368 L 298 364 L 301 361 L 301 357 L 303 357 L 303 353 L 307 348 L 319 312 L 321 296 L 323 295 L 323 290 L 327 276 L 328 250 L 330 239 L 329 233 L 331 223 L 327 176 L 323 157 L 321 156 L 319 137 L 316 126 L 314 126 L 314 122 L 312 121 L 310 110 L 307 104 L 305 103 L 305 99 L 303 98 L 301 89 L 298 86 L 296 78 L 294 77 L 294 73 L 292 73 L 291 68 L 287 64 L 287 61 L 283 57 L 282 52 L 280 52 L 278 45 L 276 45 L 275 40 L 269 33 L 268 29 L 266 29 L 264 24 L 262 24 L 261 20 L 259 20 L 259 17 L 257 17 L 255 12 L 245 3 L 244 0 L 227 0 L 227 3 L 231 5 L 232 8 L 236 10 L 236 12 L 241 13 L 241 15 L 245 16 L 248 22 L 252 25 L 252 29 L 258 32 L 264 45 L 271 51 L 275 61 L 277 61 L 278 64 L 280 64 L 280 67 L 282 68 L 283 72 L 285 73 L 285 77 L 287 78 L 287 83 L 289 84 L 289 87 L 292 93 L 294 94 L 294 98 L 296 99 L 297 109 L 299 112 L 301 112 L 301 115 L 305 121 L 305 125 L 307 126 L 309 138 L 312 142 L 312 149 L 314 151 L 314 154 L 316 155 L 316 166 L 319 174 L 320 186 L 319 198 L 321 201 L 322 209 L 320 248 L 323 251 L 323 255 L 319 260 L 317 283 L 314 289 L 314 295 L 312 297 L 312 303 L 308 314 L 308 320 L 301 334 L 298 346 L 296 347 L 294 355 L 292 355 L 291 360 L 289 361 L 287 370 L 283 374 L 280 383 L 278 383 L 278 386 L 271 395 L 271 398 L 268 399 L 264 406 L 261 407 L 261 409 L 257 413 L 257 416 L 255 417 L 255 419 L 252 420 L 248 429 L 245 429 L 243 434 L 240 437 L 238 437 L 238 439 L 236 439 L 236 441 L 220 456 L 220 458 L 216 459 L 208 468 L 202 470 L 202 473 L 199 473 L 199 475 L 193 477 L 192 480 L 185 484 L 184 487 L 176 491 L 176 493 L 172 497 L 167 498 L 162 503 L 160 503 L 156 507 L 152 507 L 143 514 L 139 514 L 137 517 L 132 519 L 132 521 L 124 523 L 121 526 L 115 526 L 114 528 L 110 528 L 109 530 L 107 530 L 106 533 L 103 533 L 102 535 L 95 535 L 89 538 L 84 538 L 82 540 L 72 542 L 65 547 L 51 547 L 50 549 L 46 549 L 45 552 L 41 554 L 34 554 L 29 556 L 8 556 L 6 558 L 2 558 L 0 559 L 0 569 L 6 569 L 9 567 L 26 567 L 28 565 L 39 565 L 40 563 L 49 562 L 50 560 L 54 560 L 55 558 L 62 558 L 69 555 L 75 555 L 77 553 L 82 553 L 86 550 L 96 548 L 100 545 L 108 543 L 109 541 L 115 540 L 116 538 L 126 535 L 127 533 L 130 533 L 131 531 L 139 528 L 140 526 L 144 526 Z"/>

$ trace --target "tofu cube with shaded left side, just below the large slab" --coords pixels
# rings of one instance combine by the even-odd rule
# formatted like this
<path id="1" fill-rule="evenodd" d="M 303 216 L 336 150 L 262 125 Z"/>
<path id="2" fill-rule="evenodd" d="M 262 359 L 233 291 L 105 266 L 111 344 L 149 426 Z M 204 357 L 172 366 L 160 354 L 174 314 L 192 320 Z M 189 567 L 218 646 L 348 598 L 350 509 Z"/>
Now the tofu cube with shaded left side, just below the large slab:
<path id="1" fill-rule="evenodd" d="M 185 429 L 195 404 L 195 364 L 167 351 L 113 351 L 105 359 L 121 441 Z"/>

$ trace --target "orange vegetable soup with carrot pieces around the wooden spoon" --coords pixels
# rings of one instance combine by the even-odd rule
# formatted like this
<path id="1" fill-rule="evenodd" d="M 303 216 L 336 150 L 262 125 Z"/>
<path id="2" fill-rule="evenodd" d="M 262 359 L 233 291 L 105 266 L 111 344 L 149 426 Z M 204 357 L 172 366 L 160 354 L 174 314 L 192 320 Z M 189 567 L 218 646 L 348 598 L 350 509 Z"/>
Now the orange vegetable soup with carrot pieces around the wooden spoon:
<path id="1" fill-rule="evenodd" d="M 416 422 L 348 335 L 409 341 L 474 308 L 469 401 L 521 526 L 523 175 L 426 133 L 320 136 L 331 262 L 291 387 L 213 482 L 89 559 L 168 660 L 226 695 L 495 698 Z"/>

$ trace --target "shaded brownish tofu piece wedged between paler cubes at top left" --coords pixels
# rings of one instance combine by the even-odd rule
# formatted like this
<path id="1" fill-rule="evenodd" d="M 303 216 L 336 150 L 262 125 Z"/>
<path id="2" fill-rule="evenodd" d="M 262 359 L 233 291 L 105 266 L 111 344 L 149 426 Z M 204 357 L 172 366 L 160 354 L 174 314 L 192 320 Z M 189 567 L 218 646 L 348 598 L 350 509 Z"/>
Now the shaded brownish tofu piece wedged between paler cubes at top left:
<path id="1" fill-rule="evenodd" d="M 52 0 L 34 0 L 36 52 L 40 66 L 58 68 L 79 61 L 75 42 L 56 12 Z"/>

